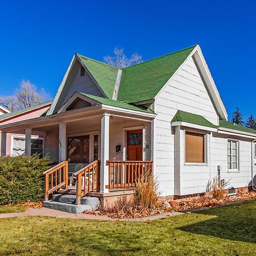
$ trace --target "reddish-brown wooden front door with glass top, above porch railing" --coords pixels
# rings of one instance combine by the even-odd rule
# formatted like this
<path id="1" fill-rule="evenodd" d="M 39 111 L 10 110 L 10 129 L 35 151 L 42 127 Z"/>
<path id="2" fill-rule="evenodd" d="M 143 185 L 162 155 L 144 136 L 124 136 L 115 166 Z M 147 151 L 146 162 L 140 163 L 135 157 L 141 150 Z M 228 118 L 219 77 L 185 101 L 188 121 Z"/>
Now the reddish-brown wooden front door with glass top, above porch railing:
<path id="1" fill-rule="evenodd" d="M 142 130 L 127 131 L 127 160 L 142 161 Z"/>

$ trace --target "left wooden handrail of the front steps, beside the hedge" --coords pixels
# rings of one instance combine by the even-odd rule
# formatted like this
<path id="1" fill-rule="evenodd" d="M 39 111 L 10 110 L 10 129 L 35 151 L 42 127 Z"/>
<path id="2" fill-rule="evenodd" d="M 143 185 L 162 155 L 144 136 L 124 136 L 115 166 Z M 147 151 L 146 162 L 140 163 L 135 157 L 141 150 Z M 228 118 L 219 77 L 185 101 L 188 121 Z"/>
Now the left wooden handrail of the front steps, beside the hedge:
<path id="1" fill-rule="evenodd" d="M 61 162 L 43 173 L 45 181 L 44 199 L 49 200 L 49 195 L 65 186 L 68 189 L 68 161 Z"/>

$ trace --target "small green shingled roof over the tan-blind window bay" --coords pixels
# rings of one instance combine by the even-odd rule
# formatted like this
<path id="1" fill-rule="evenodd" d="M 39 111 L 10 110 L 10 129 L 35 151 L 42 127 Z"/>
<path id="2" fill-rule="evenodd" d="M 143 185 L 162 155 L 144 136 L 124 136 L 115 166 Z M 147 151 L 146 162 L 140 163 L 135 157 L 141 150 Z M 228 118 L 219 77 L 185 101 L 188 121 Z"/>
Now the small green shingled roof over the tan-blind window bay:
<path id="1" fill-rule="evenodd" d="M 213 123 L 209 122 L 202 115 L 192 114 L 181 110 L 177 111 L 174 118 L 172 118 L 172 122 L 187 122 L 193 123 L 194 125 L 217 128 L 217 126 L 213 125 Z"/>

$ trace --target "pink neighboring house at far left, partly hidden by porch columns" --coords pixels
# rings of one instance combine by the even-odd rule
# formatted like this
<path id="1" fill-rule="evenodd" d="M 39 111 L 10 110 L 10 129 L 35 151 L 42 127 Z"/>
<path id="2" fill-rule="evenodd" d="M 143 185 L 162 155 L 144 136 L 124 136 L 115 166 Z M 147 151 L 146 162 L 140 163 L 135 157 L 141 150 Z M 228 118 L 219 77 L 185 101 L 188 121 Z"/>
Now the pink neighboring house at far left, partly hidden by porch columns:
<path id="1" fill-rule="evenodd" d="M 31 108 L 18 110 L 16 112 L 10 112 L 9 110 L 0 106 L 0 125 L 6 125 L 18 121 L 24 121 L 27 119 L 33 119 L 44 115 L 52 102 L 46 102 L 33 106 Z M 1 131 L 0 131 L 1 134 Z M 1 147 L 1 137 L 0 137 Z M 44 137 L 39 135 L 32 136 L 31 150 L 34 148 L 34 152 L 39 154 L 44 150 Z M 0 148 L 1 150 L 1 148 Z M 6 155 L 22 155 L 25 150 L 25 135 L 7 133 L 6 135 Z M 2 152 L 2 151 L 0 151 Z"/>

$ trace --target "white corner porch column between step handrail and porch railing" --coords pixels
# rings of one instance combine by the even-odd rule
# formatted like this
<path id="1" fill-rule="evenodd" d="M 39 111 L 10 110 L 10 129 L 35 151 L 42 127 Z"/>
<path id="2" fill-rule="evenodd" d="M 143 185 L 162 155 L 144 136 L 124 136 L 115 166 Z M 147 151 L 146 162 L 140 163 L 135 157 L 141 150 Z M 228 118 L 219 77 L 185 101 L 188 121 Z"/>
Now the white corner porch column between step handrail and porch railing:
<path id="1" fill-rule="evenodd" d="M 109 114 L 103 114 L 101 118 L 101 192 L 108 193 L 109 189 L 106 185 L 109 184 L 108 174 L 109 167 L 106 166 L 106 161 L 109 160 Z"/>

